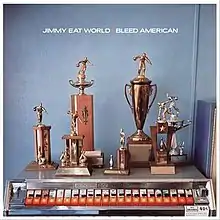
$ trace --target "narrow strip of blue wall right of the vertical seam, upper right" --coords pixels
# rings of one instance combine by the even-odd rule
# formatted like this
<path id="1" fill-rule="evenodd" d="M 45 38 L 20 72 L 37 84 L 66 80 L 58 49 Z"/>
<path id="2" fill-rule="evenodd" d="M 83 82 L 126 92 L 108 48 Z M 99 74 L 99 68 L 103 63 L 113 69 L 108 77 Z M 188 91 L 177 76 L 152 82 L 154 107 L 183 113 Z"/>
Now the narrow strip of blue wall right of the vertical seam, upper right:
<path id="1" fill-rule="evenodd" d="M 196 99 L 216 97 L 216 8 L 201 5 L 198 35 Z M 204 89 L 206 88 L 206 89 Z"/>

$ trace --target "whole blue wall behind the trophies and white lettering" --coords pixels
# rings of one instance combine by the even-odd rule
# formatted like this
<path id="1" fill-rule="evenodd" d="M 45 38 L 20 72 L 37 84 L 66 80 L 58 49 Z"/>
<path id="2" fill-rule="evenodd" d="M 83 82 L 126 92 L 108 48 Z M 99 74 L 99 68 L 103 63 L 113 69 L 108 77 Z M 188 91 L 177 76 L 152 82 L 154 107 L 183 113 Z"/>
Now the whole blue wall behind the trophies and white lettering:
<path id="1" fill-rule="evenodd" d="M 145 124 L 157 117 L 166 93 L 179 97 L 181 118 L 193 119 L 197 98 L 215 98 L 215 6 L 212 5 L 5 5 L 4 7 L 4 179 L 14 178 L 33 158 L 33 106 L 43 102 L 52 126 L 52 157 L 69 132 L 69 84 L 84 56 L 94 63 L 95 147 L 115 153 L 121 127 L 135 131 L 124 85 L 136 75 L 134 55 L 146 51 L 153 63 L 148 77 L 158 94 Z M 45 35 L 46 27 L 173 27 L 178 34 Z M 199 41 L 198 41 L 199 40 Z M 205 56 L 204 52 L 208 52 Z M 207 88 L 210 88 L 207 90 Z M 192 126 L 193 128 L 193 126 Z M 193 129 L 179 133 L 191 154 Z"/>

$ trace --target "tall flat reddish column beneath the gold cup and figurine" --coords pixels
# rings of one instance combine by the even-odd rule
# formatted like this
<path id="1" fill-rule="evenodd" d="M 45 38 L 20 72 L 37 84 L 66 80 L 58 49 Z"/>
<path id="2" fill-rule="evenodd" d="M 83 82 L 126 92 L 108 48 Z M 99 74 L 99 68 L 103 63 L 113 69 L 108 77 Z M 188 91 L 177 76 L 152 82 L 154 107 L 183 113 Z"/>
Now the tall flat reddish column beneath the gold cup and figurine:
<path id="1" fill-rule="evenodd" d="M 81 121 L 77 125 L 79 135 L 84 135 L 83 150 L 94 150 L 93 95 L 71 95 L 71 110 L 78 112 Z"/>

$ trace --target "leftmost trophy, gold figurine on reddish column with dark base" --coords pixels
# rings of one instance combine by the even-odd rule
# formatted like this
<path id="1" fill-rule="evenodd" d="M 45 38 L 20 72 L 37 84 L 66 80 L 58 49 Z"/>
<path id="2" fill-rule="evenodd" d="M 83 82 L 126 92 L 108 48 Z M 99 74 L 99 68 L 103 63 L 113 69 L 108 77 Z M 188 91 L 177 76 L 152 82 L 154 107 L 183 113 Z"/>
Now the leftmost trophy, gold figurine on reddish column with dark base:
<path id="1" fill-rule="evenodd" d="M 50 129 L 51 126 L 46 126 L 42 123 L 43 112 L 47 110 L 42 103 L 35 106 L 33 110 L 37 114 L 37 124 L 33 126 L 34 143 L 35 143 L 35 161 L 32 161 L 25 168 L 27 171 L 35 170 L 54 170 L 58 164 L 51 161 L 51 146 L 50 146 Z"/>

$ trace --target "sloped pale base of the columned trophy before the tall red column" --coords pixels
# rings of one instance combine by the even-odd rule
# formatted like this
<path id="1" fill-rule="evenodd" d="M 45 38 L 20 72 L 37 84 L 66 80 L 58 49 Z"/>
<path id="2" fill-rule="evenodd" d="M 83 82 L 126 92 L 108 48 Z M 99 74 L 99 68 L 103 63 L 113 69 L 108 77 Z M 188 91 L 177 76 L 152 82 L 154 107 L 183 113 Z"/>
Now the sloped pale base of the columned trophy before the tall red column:
<path id="1" fill-rule="evenodd" d="M 91 176 L 91 171 L 88 169 L 87 166 L 59 167 L 55 176 Z"/>

